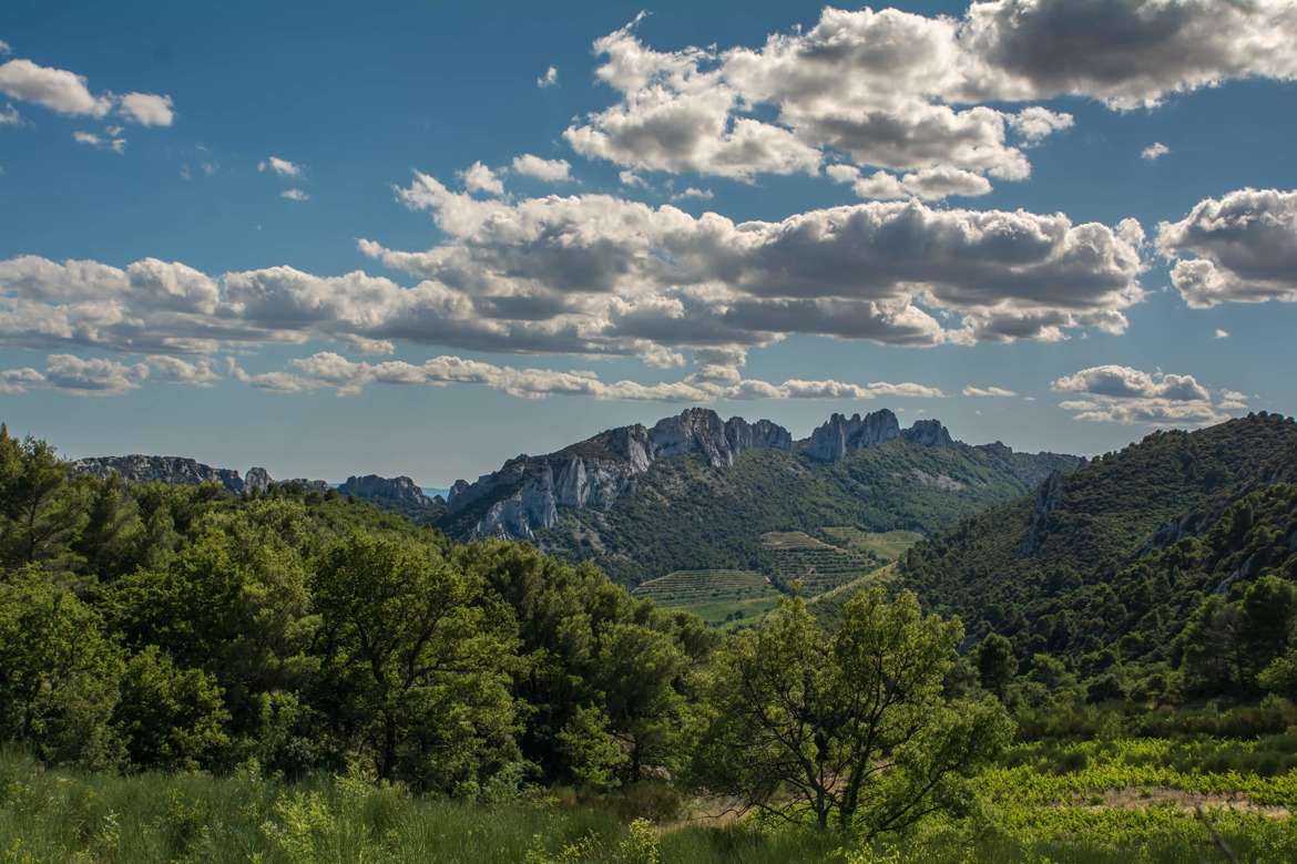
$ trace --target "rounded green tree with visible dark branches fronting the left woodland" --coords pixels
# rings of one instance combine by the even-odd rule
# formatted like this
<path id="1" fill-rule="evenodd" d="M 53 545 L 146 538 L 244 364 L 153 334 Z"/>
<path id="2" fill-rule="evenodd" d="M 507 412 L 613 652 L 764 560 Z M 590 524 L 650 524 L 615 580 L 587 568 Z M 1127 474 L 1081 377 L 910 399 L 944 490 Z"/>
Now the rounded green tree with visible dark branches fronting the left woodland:
<path id="1" fill-rule="evenodd" d="M 518 769 L 512 615 L 434 549 L 353 535 L 314 580 L 318 703 L 385 780 L 477 795 Z"/>

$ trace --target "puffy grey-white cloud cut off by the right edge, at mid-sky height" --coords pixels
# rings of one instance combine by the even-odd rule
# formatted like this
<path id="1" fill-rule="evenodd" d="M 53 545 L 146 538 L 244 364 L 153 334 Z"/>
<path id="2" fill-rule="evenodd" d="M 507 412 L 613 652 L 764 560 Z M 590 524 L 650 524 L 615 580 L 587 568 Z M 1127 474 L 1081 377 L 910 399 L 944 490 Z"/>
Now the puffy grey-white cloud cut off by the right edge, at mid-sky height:
<path id="1" fill-rule="evenodd" d="M 1297 190 L 1240 189 L 1163 222 L 1157 247 L 1192 308 L 1297 301 Z"/>

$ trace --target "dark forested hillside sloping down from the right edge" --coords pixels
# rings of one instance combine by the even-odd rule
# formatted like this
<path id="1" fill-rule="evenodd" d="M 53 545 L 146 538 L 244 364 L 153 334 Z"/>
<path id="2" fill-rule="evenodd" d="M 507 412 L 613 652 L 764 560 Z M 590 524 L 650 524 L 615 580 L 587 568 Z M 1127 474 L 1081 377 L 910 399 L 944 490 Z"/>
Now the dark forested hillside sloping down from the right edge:
<path id="1" fill-rule="evenodd" d="M 1297 696 L 1297 424 L 1156 433 L 909 551 L 899 584 L 1099 693 Z M 1105 689 L 1106 688 L 1106 689 Z"/>

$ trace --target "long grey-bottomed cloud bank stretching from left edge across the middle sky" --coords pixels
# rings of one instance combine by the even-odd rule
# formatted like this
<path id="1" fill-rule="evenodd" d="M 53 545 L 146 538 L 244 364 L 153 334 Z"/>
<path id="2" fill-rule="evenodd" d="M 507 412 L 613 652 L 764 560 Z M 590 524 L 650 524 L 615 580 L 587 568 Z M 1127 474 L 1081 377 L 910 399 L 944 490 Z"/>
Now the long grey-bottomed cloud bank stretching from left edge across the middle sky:
<path id="1" fill-rule="evenodd" d="M 323 339 L 361 352 L 420 345 L 672 368 L 687 351 L 794 333 L 930 346 L 1121 332 L 1143 297 L 1139 250 L 1060 214 L 868 202 L 735 224 L 601 194 L 479 199 L 427 175 L 399 196 L 445 240 L 359 249 L 414 285 L 25 255 L 0 262 L 0 345 L 208 355 Z"/>

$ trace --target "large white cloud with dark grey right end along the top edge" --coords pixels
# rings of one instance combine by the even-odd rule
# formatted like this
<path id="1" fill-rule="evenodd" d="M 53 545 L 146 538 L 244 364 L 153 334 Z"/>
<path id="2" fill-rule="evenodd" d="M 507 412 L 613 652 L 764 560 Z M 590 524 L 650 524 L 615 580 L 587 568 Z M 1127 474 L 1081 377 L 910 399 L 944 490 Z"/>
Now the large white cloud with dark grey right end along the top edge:
<path id="1" fill-rule="evenodd" d="M 1074 118 L 1005 104 L 1071 95 L 1130 109 L 1231 79 L 1289 80 L 1294 27 L 1291 0 L 992 0 L 964 19 L 826 8 L 764 45 L 659 52 L 633 22 L 594 43 L 619 101 L 564 137 L 633 170 L 743 180 L 815 174 L 829 152 L 888 172 L 1021 180 L 1023 149 Z"/>

